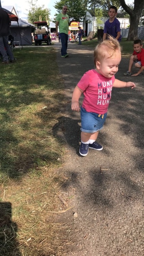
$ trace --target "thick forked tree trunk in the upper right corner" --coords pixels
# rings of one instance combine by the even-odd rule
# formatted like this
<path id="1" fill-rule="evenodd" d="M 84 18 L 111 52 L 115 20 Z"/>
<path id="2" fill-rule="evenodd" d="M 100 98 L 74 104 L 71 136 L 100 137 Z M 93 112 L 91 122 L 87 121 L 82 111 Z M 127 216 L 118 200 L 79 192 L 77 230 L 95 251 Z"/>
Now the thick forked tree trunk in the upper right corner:
<path id="1" fill-rule="evenodd" d="M 125 0 L 119 0 L 123 9 L 130 15 L 130 28 L 127 41 L 134 41 L 138 38 L 138 26 L 142 10 L 144 8 L 144 0 L 134 0 L 134 9 L 130 9 Z"/>

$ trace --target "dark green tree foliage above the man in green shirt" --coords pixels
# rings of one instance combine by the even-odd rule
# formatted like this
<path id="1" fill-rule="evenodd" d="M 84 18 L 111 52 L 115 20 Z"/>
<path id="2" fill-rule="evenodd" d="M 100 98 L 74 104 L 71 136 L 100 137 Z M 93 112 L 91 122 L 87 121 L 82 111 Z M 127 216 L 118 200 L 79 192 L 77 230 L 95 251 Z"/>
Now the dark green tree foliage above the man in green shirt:
<path id="1" fill-rule="evenodd" d="M 62 12 L 62 7 L 68 6 L 68 15 L 76 22 L 82 22 L 87 10 L 87 0 L 60 0 L 56 2 L 54 8 L 57 10 L 55 16 Z"/>

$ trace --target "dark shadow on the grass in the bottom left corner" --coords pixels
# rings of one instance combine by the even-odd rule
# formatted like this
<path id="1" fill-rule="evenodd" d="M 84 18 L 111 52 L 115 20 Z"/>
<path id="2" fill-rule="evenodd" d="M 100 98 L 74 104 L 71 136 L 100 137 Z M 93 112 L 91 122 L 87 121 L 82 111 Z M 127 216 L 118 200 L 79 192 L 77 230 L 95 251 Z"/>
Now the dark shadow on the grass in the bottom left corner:
<path id="1" fill-rule="evenodd" d="M 0 255 L 21 256 L 16 241 L 17 224 L 12 221 L 12 205 L 0 202 Z"/>

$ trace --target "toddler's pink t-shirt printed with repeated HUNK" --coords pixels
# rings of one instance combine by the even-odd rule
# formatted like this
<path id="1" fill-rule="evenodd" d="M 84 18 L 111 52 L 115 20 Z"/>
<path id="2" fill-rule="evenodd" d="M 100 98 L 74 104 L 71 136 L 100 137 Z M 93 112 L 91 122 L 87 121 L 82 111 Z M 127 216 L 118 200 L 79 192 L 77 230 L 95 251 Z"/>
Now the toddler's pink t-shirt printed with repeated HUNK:
<path id="1" fill-rule="evenodd" d="M 105 114 L 107 112 L 115 77 L 106 78 L 95 69 L 86 72 L 77 86 L 84 90 L 82 107 L 87 112 Z"/>

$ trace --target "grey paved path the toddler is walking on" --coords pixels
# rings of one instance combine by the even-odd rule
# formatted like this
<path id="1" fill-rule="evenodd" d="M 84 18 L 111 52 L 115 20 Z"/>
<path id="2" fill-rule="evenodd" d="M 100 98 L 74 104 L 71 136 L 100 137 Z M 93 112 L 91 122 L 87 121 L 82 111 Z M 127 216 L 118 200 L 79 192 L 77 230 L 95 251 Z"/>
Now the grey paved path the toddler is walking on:
<path id="1" fill-rule="evenodd" d="M 81 157 L 80 113 L 71 111 L 70 101 L 82 75 L 94 68 L 93 50 L 69 43 L 69 57 L 61 58 L 61 44 L 56 42 L 54 47 L 66 102 L 63 117 L 54 129 L 54 135 L 66 142 L 68 150 L 61 169 L 68 179 L 61 191 L 73 198 L 73 208 L 63 216 L 73 222 L 69 239 L 75 241 L 67 255 L 143 256 L 144 75 L 123 76 L 129 59 L 121 60 L 115 77 L 135 82 L 136 88 L 113 88 L 106 123 L 97 139 L 103 150 L 89 150 Z"/>

